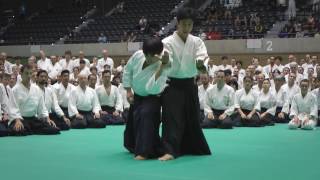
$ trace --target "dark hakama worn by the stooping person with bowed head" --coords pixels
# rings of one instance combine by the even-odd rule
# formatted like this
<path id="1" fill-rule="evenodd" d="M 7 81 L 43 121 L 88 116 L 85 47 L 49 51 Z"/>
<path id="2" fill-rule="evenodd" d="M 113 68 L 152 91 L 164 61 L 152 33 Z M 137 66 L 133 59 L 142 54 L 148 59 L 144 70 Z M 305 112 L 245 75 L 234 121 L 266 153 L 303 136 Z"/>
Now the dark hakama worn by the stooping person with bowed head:
<path id="1" fill-rule="evenodd" d="M 159 136 L 160 98 L 134 95 L 124 132 L 124 146 L 135 156 L 156 158 L 163 155 Z"/>

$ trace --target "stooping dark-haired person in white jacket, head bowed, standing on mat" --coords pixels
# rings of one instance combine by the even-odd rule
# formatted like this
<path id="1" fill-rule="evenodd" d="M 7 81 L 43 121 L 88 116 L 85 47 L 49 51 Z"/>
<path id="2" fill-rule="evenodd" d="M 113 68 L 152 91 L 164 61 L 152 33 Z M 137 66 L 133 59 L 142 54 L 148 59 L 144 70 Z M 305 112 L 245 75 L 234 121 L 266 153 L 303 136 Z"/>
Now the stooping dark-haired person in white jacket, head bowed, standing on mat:
<path id="1" fill-rule="evenodd" d="M 127 90 L 128 101 L 131 103 L 124 145 L 137 160 L 163 155 L 159 136 L 159 94 L 166 86 L 170 63 L 168 53 L 165 52 L 160 58 L 162 51 L 160 39 L 145 40 L 142 51 L 139 50 L 130 57 L 123 71 L 123 87 Z"/>

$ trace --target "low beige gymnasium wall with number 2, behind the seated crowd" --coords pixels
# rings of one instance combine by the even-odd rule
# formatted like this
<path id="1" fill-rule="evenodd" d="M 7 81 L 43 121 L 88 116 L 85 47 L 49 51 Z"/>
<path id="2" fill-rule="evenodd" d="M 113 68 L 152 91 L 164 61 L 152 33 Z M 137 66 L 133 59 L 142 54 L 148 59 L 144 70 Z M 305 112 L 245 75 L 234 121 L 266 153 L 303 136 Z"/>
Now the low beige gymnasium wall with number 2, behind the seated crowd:
<path id="1" fill-rule="evenodd" d="M 230 58 L 241 59 L 248 64 L 252 57 L 258 57 L 264 64 L 267 57 L 280 55 L 286 62 L 289 54 L 294 54 L 298 59 L 305 54 L 318 55 L 320 57 L 320 39 L 316 38 L 292 38 L 292 39 L 258 39 L 258 40 L 219 40 L 206 41 L 208 53 L 216 64 L 222 55 Z M 111 43 L 111 44 L 60 44 L 60 45 L 23 45 L 23 46 L 0 46 L 1 52 L 7 52 L 8 56 L 28 57 L 38 55 L 43 49 L 47 55 L 63 55 L 65 50 L 71 50 L 77 55 L 80 50 L 86 56 L 101 56 L 101 50 L 107 48 L 111 57 L 117 64 L 120 59 L 128 59 L 130 55 L 141 47 L 141 43 Z"/>

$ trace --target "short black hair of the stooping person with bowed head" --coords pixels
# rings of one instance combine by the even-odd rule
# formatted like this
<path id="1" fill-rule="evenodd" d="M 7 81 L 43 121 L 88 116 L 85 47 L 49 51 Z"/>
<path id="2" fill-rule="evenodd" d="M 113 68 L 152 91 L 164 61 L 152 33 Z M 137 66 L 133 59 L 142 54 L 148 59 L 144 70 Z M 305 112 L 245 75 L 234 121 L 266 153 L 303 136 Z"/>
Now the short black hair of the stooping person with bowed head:
<path id="1" fill-rule="evenodd" d="M 161 54 L 163 50 L 163 43 L 161 40 L 157 37 L 146 39 L 143 42 L 142 50 L 145 55 L 155 55 L 155 54 Z"/>

